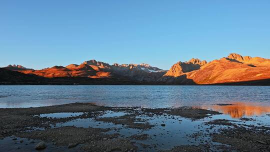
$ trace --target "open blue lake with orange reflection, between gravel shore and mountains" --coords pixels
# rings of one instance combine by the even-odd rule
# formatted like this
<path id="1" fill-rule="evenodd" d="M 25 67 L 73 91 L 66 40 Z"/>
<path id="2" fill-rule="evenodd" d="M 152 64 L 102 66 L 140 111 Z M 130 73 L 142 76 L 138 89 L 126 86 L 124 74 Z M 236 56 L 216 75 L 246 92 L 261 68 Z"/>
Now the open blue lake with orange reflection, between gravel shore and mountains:
<path id="1" fill-rule="evenodd" d="M 150 108 L 195 106 L 242 115 L 270 110 L 270 86 L 211 85 L 1 85 L 0 107 L 36 107 L 71 102 Z M 233 104 L 218 106 L 216 104 Z M 233 110 L 233 111 L 231 111 Z M 249 110 L 249 111 L 246 111 Z M 241 114 L 239 114 L 241 115 Z M 236 114 L 237 116 L 237 114 Z"/>

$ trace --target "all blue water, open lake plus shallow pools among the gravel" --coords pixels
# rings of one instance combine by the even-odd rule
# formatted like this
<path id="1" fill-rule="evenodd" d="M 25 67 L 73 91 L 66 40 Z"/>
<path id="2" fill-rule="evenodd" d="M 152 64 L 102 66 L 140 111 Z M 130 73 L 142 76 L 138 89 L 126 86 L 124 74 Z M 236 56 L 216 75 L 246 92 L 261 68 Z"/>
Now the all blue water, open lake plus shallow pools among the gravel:
<path id="1" fill-rule="evenodd" d="M 134 140 L 135 145 L 148 144 L 149 151 L 169 149 L 182 144 L 200 144 L 201 141 L 212 142 L 207 132 L 216 132 L 219 128 L 228 126 L 217 125 L 213 129 L 205 122 L 214 119 L 233 120 L 231 123 L 240 125 L 270 125 L 270 86 L 165 86 L 165 85 L 0 85 L 0 107 L 35 107 L 57 105 L 71 102 L 94 102 L 105 106 L 140 106 L 140 107 L 179 107 L 193 106 L 221 111 L 223 114 L 192 120 L 181 116 L 168 114 L 137 115 L 154 126 L 150 129 L 129 128 L 122 124 L 103 122 L 94 118 L 74 118 L 66 122 L 56 123 L 52 127 L 100 127 L 113 128 L 110 133 L 119 133 L 122 137 L 146 133 L 150 137 L 145 140 Z M 217 105 L 217 104 L 227 105 Z M 139 109 L 139 108 L 137 108 Z M 126 112 L 102 111 L 99 117 L 117 117 Z M 40 117 L 69 117 L 78 116 L 82 112 L 43 113 Z M 37 115 L 36 115 L 37 116 Z M 252 118 L 241 121 L 240 117 Z M 143 122 L 143 121 L 141 121 Z M 136 123 L 139 123 L 136 121 Z M 164 123 L 165 126 L 160 124 Z M 43 129 L 43 128 L 40 128 Z M 192 133 L 202 135 L 192 138 Z M 3 151 L 10 149 L 17 151 L 13 146 L 12 138 L 4 139 L 0 145 Z M 33 149 L 30 145 L 18 143 L 21 151 Z M 214 143 L 219 144 L 219 143 Z M 55 150 L 49 145 L 49 149 Z M 47 148 L 47 149 L 48 149 Z M 62 147 L 60 147 L 62 148 Z M 62 150 L 62 149 L 60 149 Z"/>

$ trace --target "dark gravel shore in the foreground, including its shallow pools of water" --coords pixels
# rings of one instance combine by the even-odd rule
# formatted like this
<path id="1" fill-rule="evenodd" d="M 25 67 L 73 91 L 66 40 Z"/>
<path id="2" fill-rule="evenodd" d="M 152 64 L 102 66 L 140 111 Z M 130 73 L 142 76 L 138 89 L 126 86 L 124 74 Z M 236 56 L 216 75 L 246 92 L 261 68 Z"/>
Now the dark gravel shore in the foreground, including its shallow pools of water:
<path id="1" fill-rule="evenodd" d="M 93 103 L 0 108 L 0 151 L 270 151 L 261 117 L 223 115 Z"/>

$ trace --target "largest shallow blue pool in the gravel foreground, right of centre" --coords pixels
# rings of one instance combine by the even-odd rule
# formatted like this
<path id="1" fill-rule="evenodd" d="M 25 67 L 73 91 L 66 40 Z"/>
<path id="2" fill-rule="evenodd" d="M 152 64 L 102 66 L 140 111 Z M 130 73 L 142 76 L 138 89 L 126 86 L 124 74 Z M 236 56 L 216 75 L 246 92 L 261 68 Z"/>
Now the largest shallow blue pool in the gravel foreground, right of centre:
<path id="1" fill-rule="evenodd" d="M 110 115 L 118 115 L 118 113 Z M 103 115 L 104 116 L 104 115 Z M 78 118 L 70 120 L 64 123 L 58 123 L 56 127 L 60 126 L 76 126 L 76 127 L 100 127 L 100 128 L 112 128 L 110 131 L 106 132 L 109 134 L 119 133 L 124 137 L 138 134 L 148 134 L 148 138 L 145 140 L 134 140 L 138 143 L 149 144 L 150 146 L 156 147 L 157 149 L 168 149 L 179 144 L 199 144 L 199 140 L 193 138 L 187 139 L 188 134 L 192 134 L 197 131 L 202 131 L 206 125 L 198 128 L 197 125 L 202 124 L 203 120 L 191 120 L 183 118 L 181 116 L 167 116 L 167 115 L 156 115 L 153 117 L 148 117 L 146 115 L 136 116 L 142 120 L 146 120 L 154 126 L 150 129 L 137 129 L 128 128 L 122 124 L 114 124 L 112 122 L 96 121 L 93 118 Z M 135 121 L 134 123 L 146 123 L 143 121 Z M 161 126 L 165 124 L 165 126 Z M 208 137 L 203 138 L 203 140 L 209 140 Z"/>

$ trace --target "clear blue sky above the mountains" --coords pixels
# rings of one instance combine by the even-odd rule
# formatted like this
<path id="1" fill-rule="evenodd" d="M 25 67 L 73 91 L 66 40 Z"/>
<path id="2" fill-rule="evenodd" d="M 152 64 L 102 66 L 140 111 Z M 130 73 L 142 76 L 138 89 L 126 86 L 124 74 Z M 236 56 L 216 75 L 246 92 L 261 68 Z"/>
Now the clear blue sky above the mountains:
<path id="1" fill-rule="evenodd" d="M 270 0 L 0 0 L 0 66 L 270 58 Z"/>

